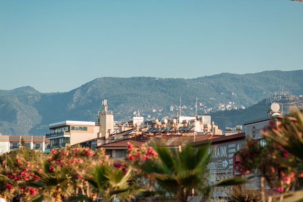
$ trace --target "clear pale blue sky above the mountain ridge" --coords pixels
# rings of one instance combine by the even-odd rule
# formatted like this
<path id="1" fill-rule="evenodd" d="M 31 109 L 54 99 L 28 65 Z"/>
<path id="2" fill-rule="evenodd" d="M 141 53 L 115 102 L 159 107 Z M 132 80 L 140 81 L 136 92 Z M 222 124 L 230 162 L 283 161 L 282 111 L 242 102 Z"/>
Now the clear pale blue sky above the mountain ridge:
<path id="1" fill-rule="evenodd" d="M 303 3 L 1 0 L 0 89 L 303 69 Z"/>

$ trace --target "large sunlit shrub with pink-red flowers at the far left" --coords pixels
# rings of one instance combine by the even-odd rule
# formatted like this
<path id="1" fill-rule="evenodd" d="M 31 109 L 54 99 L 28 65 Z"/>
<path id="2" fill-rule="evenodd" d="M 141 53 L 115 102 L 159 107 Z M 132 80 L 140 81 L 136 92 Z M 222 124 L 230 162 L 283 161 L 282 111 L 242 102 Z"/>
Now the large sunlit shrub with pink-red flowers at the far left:
<path id="1" fill-rule="evenodd" d="M 57 201 L 65 194 L 67 197 L 79 192 L 88 194 L 90 187 L 82 175 L 90 173 L 97 163 L 110 164 L 104 150 L 92 151 L 82 147 L 52 149 L 49 155 L 22 148 L 8 153 L 7 159 L 7 162 L 2 160 L 3 166 L 0 167 L 4 176 L 0 194 L 9 196 L 8 199 L 12 199 L 16 191 L 24 199 L 33 199 L 35 195 L 49 196 L 50 199 L 55 196 L 53 199 Z"/>

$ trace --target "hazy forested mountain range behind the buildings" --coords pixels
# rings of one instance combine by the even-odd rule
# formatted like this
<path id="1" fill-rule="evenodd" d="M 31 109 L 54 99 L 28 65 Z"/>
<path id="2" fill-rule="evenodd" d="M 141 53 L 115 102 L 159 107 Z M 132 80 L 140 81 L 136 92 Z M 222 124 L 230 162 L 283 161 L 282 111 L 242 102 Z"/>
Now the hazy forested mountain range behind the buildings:
<path id="1" fill-rule="evenodd" d="M 281 89 L 303 94 L 302 77 L 303 70 L 222 73 L 192 79 L 102 77 L 65 93 L 41 93 L 30 86 L 0 90 L 0 133 L 45 135 L 51 123 L 96 121 L 103 99 L 120 121 L 129 120 L 136 110 L 145 118 L 175 116 L 180 113 L 180 100 L 182 115 L 195 115 L 197 98 L 197 114 L 209 113 L 220 128 L 235 126 L 266 116 L 264 99 Z M 220 111 L 222 105 L 234 110 Z"/>

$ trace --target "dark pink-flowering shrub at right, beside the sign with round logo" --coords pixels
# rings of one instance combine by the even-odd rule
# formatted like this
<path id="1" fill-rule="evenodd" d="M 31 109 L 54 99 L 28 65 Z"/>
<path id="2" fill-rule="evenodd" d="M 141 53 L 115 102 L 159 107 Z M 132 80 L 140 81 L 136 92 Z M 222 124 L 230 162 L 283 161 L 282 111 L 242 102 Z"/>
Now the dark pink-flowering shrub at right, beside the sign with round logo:
<path id="1" fill-rule="evenodd" d="M 292 155 L 270 139 L 247 140 L 239 153 L 241 162 L 236 169 L 241 173 L 257 173 L 278 192 L 288 191 L 294 181 L 294 170 L 283 165 L 283 161 L 293 161 Z"/>

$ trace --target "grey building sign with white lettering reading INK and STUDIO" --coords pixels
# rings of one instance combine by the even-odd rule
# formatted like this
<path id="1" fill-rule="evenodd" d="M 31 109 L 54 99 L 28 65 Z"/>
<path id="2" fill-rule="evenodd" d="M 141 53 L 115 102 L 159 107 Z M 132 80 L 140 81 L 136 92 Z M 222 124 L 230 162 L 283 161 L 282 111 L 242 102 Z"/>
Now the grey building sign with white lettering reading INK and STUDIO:
<path id="1" fill-rule="evenodd" d="M 211 145 L 208 149 L 210 154 L 213 150 L 210 162 L 206 166 L 208 171 L 226 171 L 233 168 L 233 155 L 244 147 L 244 140 Z"/>

